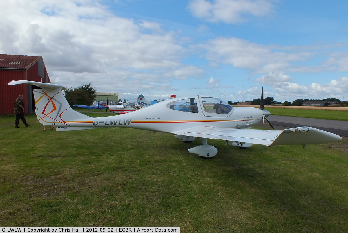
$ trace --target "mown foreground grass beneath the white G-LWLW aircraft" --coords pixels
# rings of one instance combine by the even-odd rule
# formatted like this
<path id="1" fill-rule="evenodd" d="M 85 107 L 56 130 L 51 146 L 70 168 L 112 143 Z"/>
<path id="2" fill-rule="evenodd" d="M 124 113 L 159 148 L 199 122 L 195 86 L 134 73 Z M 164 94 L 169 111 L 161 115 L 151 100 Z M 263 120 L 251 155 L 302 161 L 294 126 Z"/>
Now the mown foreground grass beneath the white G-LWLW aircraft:
<path id="1" fill-rule="evenodd" d="M 100 113 L 88 113 L 96 116 Z M 112 114 L 111 114 L 112 115 Z M 180 226 L 181 232 L 347 232 L 347 138 L 247 150 L 173 135 L 42 131 L 0 117 L 1 226 Z M 119 143 L 115 143 L 115 142 Z"/>

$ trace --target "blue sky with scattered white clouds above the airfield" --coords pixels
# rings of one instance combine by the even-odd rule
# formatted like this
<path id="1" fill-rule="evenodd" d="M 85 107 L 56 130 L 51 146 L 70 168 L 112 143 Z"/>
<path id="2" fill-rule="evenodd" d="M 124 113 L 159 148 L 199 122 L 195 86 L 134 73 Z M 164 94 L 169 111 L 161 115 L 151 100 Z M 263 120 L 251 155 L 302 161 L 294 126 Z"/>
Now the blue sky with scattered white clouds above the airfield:
<path id="1" fill-rule="evenodd" d="M 1 0 L 0 53 L 120 99 L 348 100 L 345 0 Z"/>

